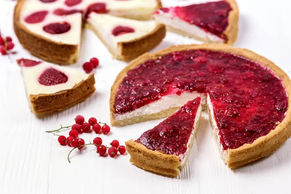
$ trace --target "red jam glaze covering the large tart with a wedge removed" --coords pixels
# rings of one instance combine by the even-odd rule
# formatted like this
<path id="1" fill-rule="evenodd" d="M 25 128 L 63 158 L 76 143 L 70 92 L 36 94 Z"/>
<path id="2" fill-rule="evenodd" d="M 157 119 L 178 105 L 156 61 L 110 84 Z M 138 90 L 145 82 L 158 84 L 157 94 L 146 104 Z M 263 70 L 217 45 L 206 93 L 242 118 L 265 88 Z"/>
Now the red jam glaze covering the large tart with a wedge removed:
<path id="1" fill-rule="evenodd" d="M 286 89 L 266 67 L 225 52 L 186 50 L 129 71 L 117 89 L 115 113 L 194 91 L 210 95 L 223 149 L 253 143 L 268 134 L 288 108 Z"/>

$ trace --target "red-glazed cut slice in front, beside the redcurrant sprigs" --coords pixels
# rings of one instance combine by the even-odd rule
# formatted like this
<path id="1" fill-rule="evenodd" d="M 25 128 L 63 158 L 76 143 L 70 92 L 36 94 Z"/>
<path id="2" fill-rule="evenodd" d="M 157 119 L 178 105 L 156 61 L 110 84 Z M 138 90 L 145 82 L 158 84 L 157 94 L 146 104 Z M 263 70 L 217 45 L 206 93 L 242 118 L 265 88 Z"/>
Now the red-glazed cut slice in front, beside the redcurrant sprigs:
<path id="1" fill-rule="evenodd" d="M 126 142 L 129 161 L 145 170 L 178 176 L 191 151 L 201 111 L 196 97 L 137 140 Z"/>

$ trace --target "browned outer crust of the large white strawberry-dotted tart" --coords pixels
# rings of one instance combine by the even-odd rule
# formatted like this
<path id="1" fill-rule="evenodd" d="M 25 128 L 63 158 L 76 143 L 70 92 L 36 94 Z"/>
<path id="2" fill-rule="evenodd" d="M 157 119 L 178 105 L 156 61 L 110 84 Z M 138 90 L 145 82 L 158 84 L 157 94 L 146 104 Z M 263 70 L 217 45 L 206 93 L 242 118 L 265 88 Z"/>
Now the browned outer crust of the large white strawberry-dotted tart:
<path id="1" fill-rule="evenodd" d="M 73 64 L 79 58 L 77 45 L 53 42 L 27 30 L 20 22 L 21 8 L 26 0 L 18 0 L 14 8 L 13 26 L 20 44 L 32 55 L 60 65 Z"/>

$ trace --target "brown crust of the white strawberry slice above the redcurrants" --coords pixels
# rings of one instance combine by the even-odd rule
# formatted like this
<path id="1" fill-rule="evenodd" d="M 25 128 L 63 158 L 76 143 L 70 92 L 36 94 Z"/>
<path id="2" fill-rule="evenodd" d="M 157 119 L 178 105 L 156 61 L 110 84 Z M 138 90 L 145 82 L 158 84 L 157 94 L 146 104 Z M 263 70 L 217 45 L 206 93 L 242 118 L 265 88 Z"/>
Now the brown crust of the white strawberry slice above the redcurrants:
<path id="1" fill-rule="evenodd" d="M 96 90 L 94 84 L 94 74 L 90 74 L 86 80 L 77 83 L 71 89 L 63 90 L 54 94 L 30 95 L 30 108 L 35 114 L 66 109 L 90 97 Z"/>

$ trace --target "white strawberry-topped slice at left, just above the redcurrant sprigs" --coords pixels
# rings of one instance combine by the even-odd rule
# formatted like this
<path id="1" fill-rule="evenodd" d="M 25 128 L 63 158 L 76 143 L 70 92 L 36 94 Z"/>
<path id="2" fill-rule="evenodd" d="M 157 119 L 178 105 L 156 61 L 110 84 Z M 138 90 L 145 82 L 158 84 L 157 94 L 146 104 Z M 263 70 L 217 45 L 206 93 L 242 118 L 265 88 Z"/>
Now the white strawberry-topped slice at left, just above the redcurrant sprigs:
<path id="1" fill-rule="evenodd" d="M 95 92 L 94 74 L 29 59 L 19 59 L 17 64 L 29 107 L 35 114 L 63 110 Z"/>

